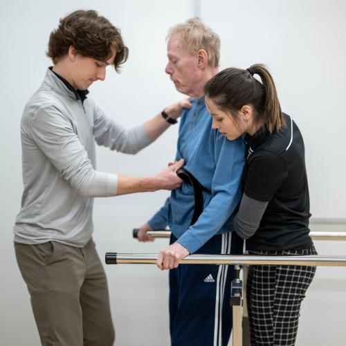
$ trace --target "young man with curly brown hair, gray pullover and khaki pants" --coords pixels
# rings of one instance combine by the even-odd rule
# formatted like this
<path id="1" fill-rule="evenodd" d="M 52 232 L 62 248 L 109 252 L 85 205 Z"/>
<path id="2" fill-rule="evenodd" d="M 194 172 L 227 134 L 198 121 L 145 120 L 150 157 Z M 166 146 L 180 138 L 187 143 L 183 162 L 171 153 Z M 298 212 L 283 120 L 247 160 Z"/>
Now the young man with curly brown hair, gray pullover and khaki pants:
<path id="1" fill-rule="evenodd" d="M 53 67 L 21 121 L 24 193 L 15 222 L 15 252 L 28 286 L 42 345 L 111 346 L 107 280 L 93 243 L 94 197 L 172 190 L 182 161 L 132 178 L 95 169 L 95 142 L 135 154 L 180 116 L 181 101 L 144 125 L 125 129 L 87 96 L 127 60 L 120 31 L 93 10 L 60 20 L 48 44 Z"/>

